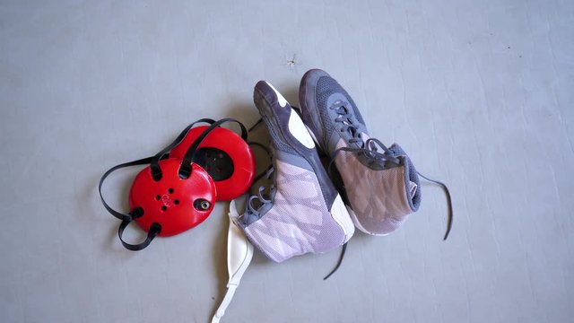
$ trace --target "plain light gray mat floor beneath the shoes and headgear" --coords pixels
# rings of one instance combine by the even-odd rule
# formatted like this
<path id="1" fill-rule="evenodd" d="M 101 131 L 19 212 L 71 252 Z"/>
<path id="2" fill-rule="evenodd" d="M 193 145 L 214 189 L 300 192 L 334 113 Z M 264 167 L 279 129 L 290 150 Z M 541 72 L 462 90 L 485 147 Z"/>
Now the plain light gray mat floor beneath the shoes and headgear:
<path id="1" fill-rule="evenodd" d="M 387 237 L 276 265 L 257 253 L 223 322 L 571 322 L 574 2 L 0 1 L 0 321 L 207 322 L 228 205 L 123 249 L 97 182 L 197 118 L 297 104 L 320 67 L 372 135 L 448 183 Z M 126 207 L 137 170 L 105 195 Z M 130 231 L 137 236 L 138 231 Z"/>

